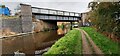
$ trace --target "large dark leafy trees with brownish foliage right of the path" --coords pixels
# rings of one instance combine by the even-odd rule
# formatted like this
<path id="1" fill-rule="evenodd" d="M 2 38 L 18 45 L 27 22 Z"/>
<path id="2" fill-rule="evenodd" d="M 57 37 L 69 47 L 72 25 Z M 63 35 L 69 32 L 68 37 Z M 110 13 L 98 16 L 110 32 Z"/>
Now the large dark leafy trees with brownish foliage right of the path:
<path id="1" fill-rule="evenodd" d="M 120 2 L 91 2 L 89 19 L 99 31 L 109 37 L 120 37 Z"/>

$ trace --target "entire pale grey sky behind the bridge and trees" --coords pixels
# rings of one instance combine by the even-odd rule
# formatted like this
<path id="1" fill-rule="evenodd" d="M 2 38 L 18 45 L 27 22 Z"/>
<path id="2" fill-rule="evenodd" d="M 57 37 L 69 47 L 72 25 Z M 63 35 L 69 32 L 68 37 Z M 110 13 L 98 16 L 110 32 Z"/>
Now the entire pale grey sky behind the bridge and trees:
<path id="1" fill-rule="evenodd" d="M 29 4 L 32 7 L 49 8 L 70 12 L 87 12 L 88 3 L 92 0 L 0 0 L 0 4 L 9 7 L 12 13 L 19 3 Z"/>

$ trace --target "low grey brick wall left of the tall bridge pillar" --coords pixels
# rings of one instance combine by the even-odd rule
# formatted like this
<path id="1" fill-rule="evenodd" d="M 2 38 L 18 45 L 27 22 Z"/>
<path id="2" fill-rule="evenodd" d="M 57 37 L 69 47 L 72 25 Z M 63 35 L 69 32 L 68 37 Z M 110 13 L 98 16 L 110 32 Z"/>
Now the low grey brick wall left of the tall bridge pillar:
<path id="1" fill-rule="evenodd" d="M 22 25 L 20 18 L 13 18 L 13 19 L 1 19 L 1 30 L 9 29 L 12 32 L 21 33 L 22 32 Z"/>

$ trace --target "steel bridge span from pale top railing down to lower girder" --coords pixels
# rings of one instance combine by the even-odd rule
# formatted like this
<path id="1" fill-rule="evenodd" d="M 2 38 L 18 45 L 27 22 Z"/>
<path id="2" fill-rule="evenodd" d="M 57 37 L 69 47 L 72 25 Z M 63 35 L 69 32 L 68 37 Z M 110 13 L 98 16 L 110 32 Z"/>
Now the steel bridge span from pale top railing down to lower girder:
<path id="1" fill-rule="evenodd" d="M 76 12 L 68 12 L 68 11 L 38 8 L 38 7 L 31 7 L 31 8 L 32 8 L 32 15 L 34 15 L 36 19 L 40 19 L 40 20 L 73 22 L 81 19 L 81 14 Z"/>

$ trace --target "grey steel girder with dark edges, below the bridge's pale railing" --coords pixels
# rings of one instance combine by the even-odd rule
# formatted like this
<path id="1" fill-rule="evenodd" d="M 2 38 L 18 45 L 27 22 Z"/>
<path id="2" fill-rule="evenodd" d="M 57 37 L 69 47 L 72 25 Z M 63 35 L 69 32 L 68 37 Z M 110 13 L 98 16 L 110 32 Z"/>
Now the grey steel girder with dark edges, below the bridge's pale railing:
<path id="1" fill-rule="evenodd" d="M 33 13 L 33 16 L 39 20 L 49 20 L 49 21 L 60 21 L 60 22 L 75 22 L 81 20 L 80 17 L 75 16 L 62 16 L 62 15 L 52 15 L 52 14 L 38 14 Z"/>

